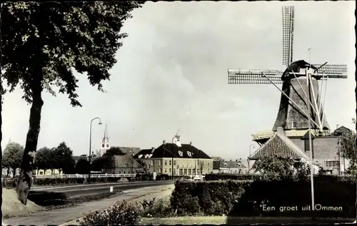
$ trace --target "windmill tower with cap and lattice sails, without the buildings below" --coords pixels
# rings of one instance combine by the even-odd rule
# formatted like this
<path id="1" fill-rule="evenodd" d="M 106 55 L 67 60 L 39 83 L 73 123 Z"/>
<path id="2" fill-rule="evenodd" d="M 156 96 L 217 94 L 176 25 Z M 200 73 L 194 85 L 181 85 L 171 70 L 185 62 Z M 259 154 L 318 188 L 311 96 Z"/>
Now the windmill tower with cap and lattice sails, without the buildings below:
<path id="1" fill-rule="evenodd" d="M 273 84 L 281 92 L 273 129 L 253 135 L 258 143 L 268 140 L 278 127 L 282 127 L 286 135 L 303 135 L 309 128 L 318 135 L 328 134 L 330 127 L 321 101 L 323 82 L 326 86 L 328 78 L 347 78 L 346 65 L 293 61 L 294 6 L 283 6 L 282 15 L 283 66 L 287 66 L 286 70 L 228 69 L 228 84 Z M 321 81 L 321 88 L 318 81 Z M 283 84 L 282 88 L 278 84 Z"/>

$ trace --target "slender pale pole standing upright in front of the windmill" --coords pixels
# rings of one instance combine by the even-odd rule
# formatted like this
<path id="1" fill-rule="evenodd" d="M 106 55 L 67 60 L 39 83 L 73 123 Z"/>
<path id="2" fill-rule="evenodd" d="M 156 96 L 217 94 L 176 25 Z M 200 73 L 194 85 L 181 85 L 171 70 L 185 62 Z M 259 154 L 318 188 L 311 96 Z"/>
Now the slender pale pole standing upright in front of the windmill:
<path id="1" fill-rule="evenodd" d="M 306 70 L 306 83 L 308 87 L 308 100 L 310 101 L 311 95 L 310 95 L 310 79 L 309 77 L 311 76 L 311 73 Z M 312 149 L 312 143 L 311 143 L 311 113 L 310 113 L 310 105 L 308 106 L 308 148 L 310 149 L 310 174 L 311 174 L 311 210 L 312 210 L 312 218 L 313 220 L 315 219 L 315 198 L 313 194 L 313 149 Z"/>

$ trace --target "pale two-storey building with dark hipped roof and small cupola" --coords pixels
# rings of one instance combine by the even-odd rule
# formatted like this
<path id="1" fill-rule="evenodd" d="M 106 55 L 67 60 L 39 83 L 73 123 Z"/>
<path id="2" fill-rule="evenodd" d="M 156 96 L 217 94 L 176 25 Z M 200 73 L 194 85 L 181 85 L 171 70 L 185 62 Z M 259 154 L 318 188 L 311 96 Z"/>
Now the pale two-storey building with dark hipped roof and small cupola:
<path id="1" fill-rule="evenodd" d="M 159 148 L 141 150 L 134 158 L 141 160 L 148 173 L 167 175 L 203 175 L 213 171 L 213 160 L 192 143 L 181 144 L 176 135 L 174 143 L 164 140 Z"/>

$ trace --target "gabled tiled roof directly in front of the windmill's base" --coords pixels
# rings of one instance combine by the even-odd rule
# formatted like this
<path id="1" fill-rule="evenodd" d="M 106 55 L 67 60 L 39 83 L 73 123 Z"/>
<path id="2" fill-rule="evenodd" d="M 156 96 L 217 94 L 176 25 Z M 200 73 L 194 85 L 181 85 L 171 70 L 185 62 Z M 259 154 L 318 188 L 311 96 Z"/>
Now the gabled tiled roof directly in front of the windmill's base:
<path id="1" fill-rule="evenodd" d="M 276 155 L 284 158 L 303 158 L 310 161 L 308 155 L 298 148 L 289 138 L 284 135 L 275 133 L 266 143 L 264 143 L 253 155 L 250 156 L 251 160 L 266 157 L 269 155 Z M 314 164 L 318 164 L 313 161 Z"/>

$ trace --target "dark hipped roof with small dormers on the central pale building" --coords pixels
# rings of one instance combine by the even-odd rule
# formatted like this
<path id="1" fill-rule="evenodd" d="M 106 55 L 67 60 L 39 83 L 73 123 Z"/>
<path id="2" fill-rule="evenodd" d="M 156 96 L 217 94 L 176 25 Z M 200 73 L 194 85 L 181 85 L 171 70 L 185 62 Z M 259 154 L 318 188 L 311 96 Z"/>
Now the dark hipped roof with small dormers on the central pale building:
<path id="1" fill-rule="evenodd" d="M 182 156 L 179 154 L 182 153 Z M 192 154 L 190 156 L 190 153 Z M 151 155 L 152 154 L 152 155 Z M 182 144 L 181 147 L 178 147 L 174 143 L 165 143 L 162 144 L 159 148 L 156 148 L 154 152 L 152 149 L 141 150 L 140 153 L 137 153 L 134 158 L 145 158 L 145 155 L 151 155 L 150 158 L 206 158 L 211 159 L 206 153 L 193 145 Z"/>

